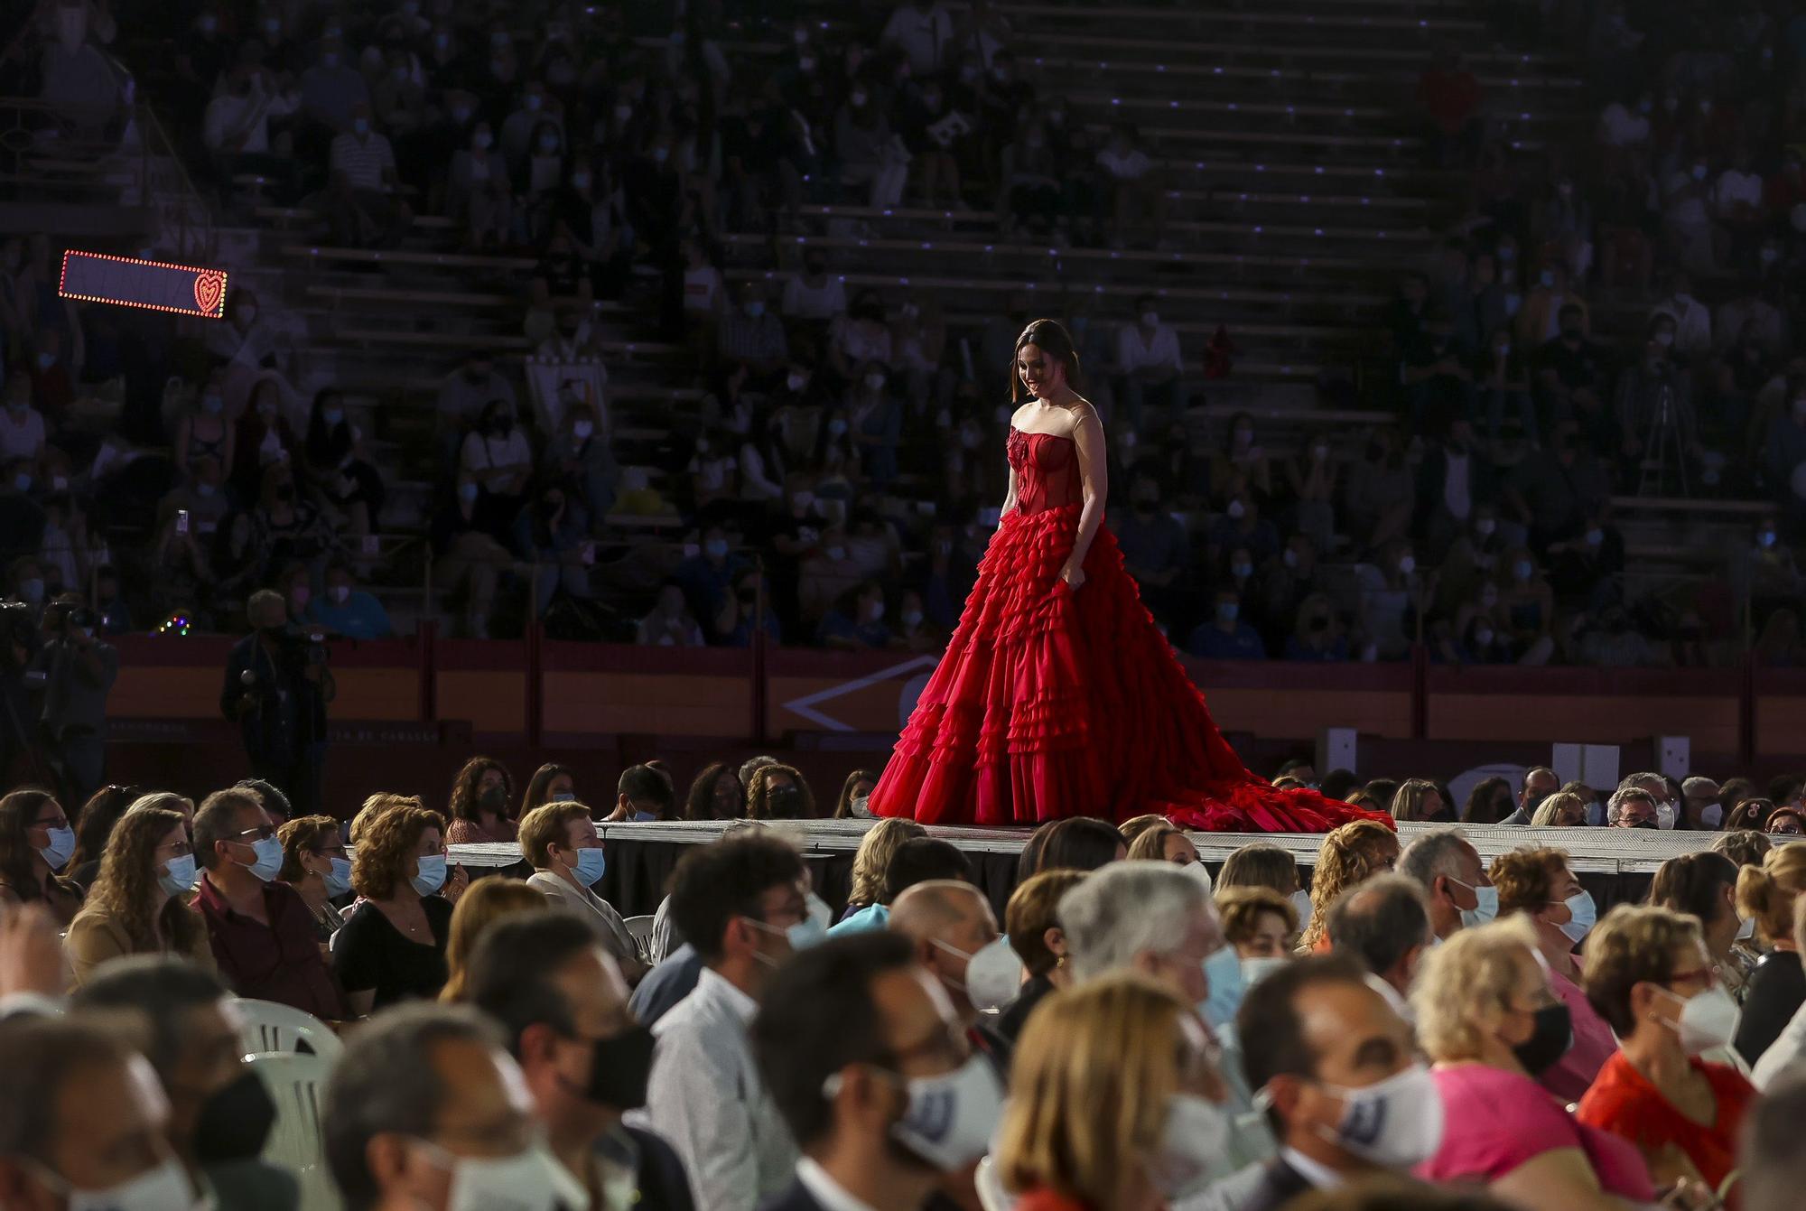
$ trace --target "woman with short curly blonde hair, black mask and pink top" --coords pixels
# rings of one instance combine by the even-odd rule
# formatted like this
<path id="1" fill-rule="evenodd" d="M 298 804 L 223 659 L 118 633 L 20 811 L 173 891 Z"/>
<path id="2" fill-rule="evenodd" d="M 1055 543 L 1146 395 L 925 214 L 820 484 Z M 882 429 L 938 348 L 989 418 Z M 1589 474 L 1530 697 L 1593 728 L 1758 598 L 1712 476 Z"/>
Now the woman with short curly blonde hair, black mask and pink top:
<path id="1" fill-rule="evenodd" d="M 1445 1122 L 1441 1148 L 1418 1177 L 1481 1184 L 1526 1211 L 1654 1202 L 1638 1151 L 1582 1126 L 1537 1084 L 1568 1050 L 1569 1027 L 1528 922 L 1463 929 L 1432 949 L 1412 1005 L 1418 1041 L 1436 1061 Z"/>

